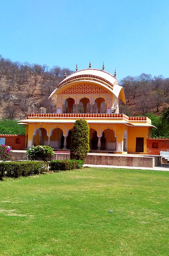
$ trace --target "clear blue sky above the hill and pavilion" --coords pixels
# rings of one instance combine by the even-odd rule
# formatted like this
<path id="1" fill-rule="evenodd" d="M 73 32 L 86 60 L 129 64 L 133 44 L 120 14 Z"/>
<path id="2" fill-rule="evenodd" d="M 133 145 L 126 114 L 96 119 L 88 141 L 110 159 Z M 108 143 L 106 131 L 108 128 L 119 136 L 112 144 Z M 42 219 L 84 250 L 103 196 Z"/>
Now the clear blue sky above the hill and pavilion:
<path id="1" fill-rule="evenodd" d="M 168 0 L 0 0 L 0 37 L 12 61 L 169 77 Z"/>

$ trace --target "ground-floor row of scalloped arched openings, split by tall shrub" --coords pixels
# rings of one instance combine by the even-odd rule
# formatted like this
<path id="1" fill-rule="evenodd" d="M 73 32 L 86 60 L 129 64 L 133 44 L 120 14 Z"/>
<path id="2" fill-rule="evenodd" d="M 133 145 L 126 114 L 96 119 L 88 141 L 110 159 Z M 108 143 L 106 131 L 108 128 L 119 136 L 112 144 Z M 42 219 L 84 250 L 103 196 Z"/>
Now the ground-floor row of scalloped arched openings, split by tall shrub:
<path id="1" fill-rule="evenodd" d="M 38 128 L 33 135 L 33 145 L 48 145 L 54 149 L 71 149 L 71 134 L 72 129 L 67 132 L 67 135 L 63 135 L 62 129 L 55 128 L 50 135 L 47 135 L 45 128 Z M 114 130 L 107 128 L 102 131 L 101 136 L 98 136 L 97 131 L 90 127 L 90 150 L 116 151 Z"/>

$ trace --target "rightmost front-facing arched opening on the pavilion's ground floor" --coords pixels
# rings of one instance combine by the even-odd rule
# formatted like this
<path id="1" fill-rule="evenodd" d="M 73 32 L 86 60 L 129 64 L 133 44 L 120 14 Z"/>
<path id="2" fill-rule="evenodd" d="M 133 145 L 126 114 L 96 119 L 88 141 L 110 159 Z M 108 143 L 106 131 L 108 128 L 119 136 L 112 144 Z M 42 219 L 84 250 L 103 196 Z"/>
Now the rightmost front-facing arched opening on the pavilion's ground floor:
<path id="1" fill-rule="evenodd" d="M 101 150 L 112 150 L 116 151 L 116 137 L 114 131 L 107 128 L 103 131 L 102 137 L 100 138 Z"/>

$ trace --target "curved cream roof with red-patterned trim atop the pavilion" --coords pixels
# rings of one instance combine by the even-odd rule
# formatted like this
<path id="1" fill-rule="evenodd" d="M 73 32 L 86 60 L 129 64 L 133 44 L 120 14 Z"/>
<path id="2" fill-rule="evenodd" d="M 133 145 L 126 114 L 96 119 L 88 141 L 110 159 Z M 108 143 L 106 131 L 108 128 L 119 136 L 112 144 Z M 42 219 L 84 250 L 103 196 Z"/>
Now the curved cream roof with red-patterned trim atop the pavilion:
<path id="1" fill-rule="evenodd" d="M 55 94 L 61 93 L 69 86 L 78 84 L 79 82 L 98 84 L 113 93 L 115 97 L 126 103 L 123 87 L 118 85 L 116 77 L 107 71 L 95 68 L 82 69 L 70 74 L 63 79 L 60 84 L 58 84 L 58 87 L 50 94 L 49 98 Z"/>

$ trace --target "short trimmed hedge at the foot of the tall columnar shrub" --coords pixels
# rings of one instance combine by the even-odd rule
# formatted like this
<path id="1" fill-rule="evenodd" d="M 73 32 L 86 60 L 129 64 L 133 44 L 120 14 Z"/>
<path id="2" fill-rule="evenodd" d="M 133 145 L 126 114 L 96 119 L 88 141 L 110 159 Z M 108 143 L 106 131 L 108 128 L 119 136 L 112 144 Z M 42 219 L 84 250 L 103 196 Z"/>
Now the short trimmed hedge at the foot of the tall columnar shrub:
<path id="1" fill-rule="evenodd" d="M 83 164 L 83 160 L 52 160 L 49 162 L 49 167 L 51 171 L 66 171 L 73 169 L 81 169 Z"/>

